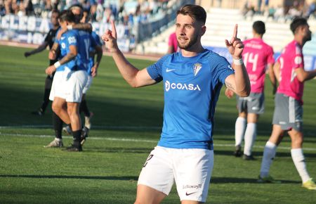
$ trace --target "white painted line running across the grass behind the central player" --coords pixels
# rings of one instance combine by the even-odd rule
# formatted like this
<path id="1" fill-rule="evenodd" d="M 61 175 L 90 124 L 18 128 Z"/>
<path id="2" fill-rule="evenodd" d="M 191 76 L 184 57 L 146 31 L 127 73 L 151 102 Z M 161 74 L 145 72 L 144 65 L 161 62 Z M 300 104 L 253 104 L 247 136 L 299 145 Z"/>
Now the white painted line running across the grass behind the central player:
<path id="1" fill-rule="evenodd" d="M 0 136 L 24 136 L 24 137 L 53 137 L 53 135 L 34 135 L 34 134 L 6 134 L 6 133 L 1 133 Z M 62 136 L 63 138 L 68 138 L 72 139 L 72 136 Z M 123 142 L 145 142 L 145 143 L 157 143 L 157 140 L 150 140 L 150 139 L 124 139 L 124 138 L 112 138 L 112 137 L 93 137 L 89 136 L 88 139 L 92 140 L 107 140 L 107 141 L 123 141 Z M 229 147 L 235 147 L 235 144 L 217 144 L 215 143 L 214 146 L 229 146 Z M 261 148 L 263 149 L 264 146 L 254 146 L 254 148 Z M 285 147 L 285 146 L 279 146 L 279 149 L 284 149 L 284 150 L 290 150 L 291 148 Z M 316 151 L 316 148 L 303 148 L 304 151 Z"/>

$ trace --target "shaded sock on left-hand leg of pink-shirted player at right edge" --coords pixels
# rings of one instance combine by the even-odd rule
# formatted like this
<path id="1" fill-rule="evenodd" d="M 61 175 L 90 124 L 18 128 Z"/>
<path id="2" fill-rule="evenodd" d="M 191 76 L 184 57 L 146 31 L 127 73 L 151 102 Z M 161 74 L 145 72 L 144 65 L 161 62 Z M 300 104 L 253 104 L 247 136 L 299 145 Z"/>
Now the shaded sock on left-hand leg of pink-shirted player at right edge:
<path id="1" fill-rule="evenodd" d="M 267 141 L 265 144 L 265 148 L 263 151 L 263 158 L 261 162 L 261 170 L 260 177 L 268 177 L 270 166 L 272 164 L 272 160 L 275 158 L 275 153 L 277 152 L 277 145 Z"/>

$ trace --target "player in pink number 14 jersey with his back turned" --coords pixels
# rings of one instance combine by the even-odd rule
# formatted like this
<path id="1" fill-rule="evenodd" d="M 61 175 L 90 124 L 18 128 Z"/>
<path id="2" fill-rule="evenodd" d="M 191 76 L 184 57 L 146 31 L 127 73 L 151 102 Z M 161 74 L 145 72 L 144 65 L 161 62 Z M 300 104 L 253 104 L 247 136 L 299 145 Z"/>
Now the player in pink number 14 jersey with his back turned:
<path id="1" fill-rule="evenodd" d="M 265 34 L 265 23 L 256 21 L 252 28 L 254 37 L 244 41 L 244 52 L 242 53 L 251 83 L 251 93 L 248 97 L 236 97 L 239 116 L 235 123 L 236 151 L 234 155 L 236 157 L 242 155 L 242 139 L 244 139 L 244 160 L 254 160 L 252 147 L 257 134 L 256 122 L 265 108 L 263 91 L 267 69 L 272 86 L 275 88 L 273 93 L 276 90 L 276 79 L 272 70 L 272 66 L 275 63 L 273 49 L 263 42 L 262 39 L 263 34 Z"/>

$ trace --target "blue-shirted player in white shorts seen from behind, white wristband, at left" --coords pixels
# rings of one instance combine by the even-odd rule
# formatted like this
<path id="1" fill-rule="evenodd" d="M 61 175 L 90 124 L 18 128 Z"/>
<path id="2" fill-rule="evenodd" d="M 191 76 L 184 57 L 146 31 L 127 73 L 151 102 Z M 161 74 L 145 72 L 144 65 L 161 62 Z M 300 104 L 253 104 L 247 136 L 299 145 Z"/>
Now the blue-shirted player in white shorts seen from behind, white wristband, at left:
<path id="1" fill-rule="evenodd" d="M 74 20 L 72 11 L 62 11 L 60 26 L 74 25 Z M 96 42 L 88 32 L 69 30 L 63 33 L 60 39 L 56 39 L 50 52 L 51 58 L 54 58 L 55 49 L 60 47 L 62 58 L 46 69 L 48 74 L 56 70 L 57 78 L 53 80 L 50 95 L 53 111 L 72 127 L 74 141 L 72 146 L 67 148 L 68 151 L 82 151 L 79 104 L 87 81 L 88 49 L 91 44 L 95 46 Z"/>

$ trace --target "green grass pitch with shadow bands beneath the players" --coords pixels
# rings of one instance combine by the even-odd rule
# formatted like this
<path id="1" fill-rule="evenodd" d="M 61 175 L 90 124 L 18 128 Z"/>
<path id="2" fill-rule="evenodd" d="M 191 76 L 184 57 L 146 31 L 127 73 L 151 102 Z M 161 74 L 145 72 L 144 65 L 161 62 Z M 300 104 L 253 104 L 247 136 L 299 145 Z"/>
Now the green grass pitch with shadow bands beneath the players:
<path id="1" fill-rule="evenodd" d="M 81 153 L 44 148 L 53 139 L 51 108 L 31 115 L 44 92 L 47 51 L 29 58 L 29 49 L 0 47 L 0 203 L 133 203 L 138 174 L 157 144 L 162 126 L 162 84 L 132 89 L 110 57 L 103 57 L 88 92 L 95 113 Z M 131 60 L 138 68 L 151 61 Z M 216 111 L 215 165 L 207 203 L 315 203 L 316 191 L 301 187 L 289 151 L 289 136 L 279 146 L 270 174 L 282 184 L 257 184 L 263 146 L 270 136 L 273 98 L 265 89 L 266 110 L 258 122 L 254 155 L 232 156 L 237 117 L 235 99 L 222 93 Z M 305 160 L 316 178 L 316 80 L 305 84 Z M 70 144 L 70 136 L 64 144 Z M 175 186 L 163 203 L 180 203 Z"/>

